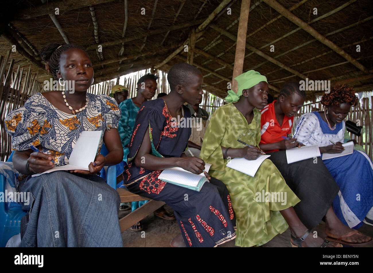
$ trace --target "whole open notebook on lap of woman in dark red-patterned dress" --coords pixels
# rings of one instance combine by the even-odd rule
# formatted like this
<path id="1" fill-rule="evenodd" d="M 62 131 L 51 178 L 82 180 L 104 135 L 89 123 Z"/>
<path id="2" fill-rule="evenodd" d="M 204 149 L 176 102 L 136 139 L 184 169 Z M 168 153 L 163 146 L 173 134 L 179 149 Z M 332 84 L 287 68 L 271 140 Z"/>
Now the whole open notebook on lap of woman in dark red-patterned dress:
<path id="1" fill-rule="evenodd" d="M 210 167 L 211 164 L 206 163 L 205 171 L 208 172 Z M 190 190 L 196 190 L 197 192 L 201 190 L 205 182 L 209 182 L 204 173 L 194 174 L 179 167 L 164 169 L 158 179 Z"/>

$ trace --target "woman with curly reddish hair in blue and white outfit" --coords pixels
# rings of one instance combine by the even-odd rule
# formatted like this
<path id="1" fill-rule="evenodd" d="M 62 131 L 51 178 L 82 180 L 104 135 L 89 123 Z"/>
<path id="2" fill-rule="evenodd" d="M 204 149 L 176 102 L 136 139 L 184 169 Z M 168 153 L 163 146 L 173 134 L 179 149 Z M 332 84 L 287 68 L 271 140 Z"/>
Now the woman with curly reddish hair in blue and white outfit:
<path id="1" fill-rule="evenodd" d="M 336 85 L 321 98 L 325 111 L 305 113 L 297 122 L 294 137 L 304 145 L 318 145 L 320 153 L 344 150 L 345 122 L 358 97 L 351 86 Z M 332 144 L 332 142 L 336 144 Z M 333 200 L 338 218 L 350 228 L 359 228 L 373 219 L 373 164 L 365 152 L 323 160 L 340 190 Z M 329 239 L 327 239 L 329 240 Z"/>

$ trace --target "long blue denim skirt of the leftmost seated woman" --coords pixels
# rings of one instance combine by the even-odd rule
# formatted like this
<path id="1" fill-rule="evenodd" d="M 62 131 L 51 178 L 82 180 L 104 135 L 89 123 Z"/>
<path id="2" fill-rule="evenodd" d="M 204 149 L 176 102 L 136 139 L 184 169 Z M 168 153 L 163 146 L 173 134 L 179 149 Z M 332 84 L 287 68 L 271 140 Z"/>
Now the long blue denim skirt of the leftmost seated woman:
<path id="1" fill-rule="evenodd" d="M 55 171 L 28 176 L 19 192 L 30 192 L 21 247 L 123 247 L 120 198 L 95 175 Z"/>

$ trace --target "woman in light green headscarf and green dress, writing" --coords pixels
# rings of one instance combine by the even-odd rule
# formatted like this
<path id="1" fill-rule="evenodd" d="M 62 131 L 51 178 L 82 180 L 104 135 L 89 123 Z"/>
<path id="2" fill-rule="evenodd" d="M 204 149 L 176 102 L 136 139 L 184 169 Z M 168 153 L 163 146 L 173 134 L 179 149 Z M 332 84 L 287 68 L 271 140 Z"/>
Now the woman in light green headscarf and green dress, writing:
<path id="1" fill-rule="evenodd" d="M 286 185 L 272 161 L 265 159 L 253 177 L 226 166 L 231 158 L 255 160 L 263 154 L 258 145 L 260 109 L 267 104 L 267 78 L 250 70 L 235 80 L 238 92 L 229 90 L 225 98 L 228 104 L 219 107 L 211 116 L 200 157 L 212 164 L 209 174 L 225 183 L 229 190 L 237 219 L 236 245 L 263 245 L 289 225 L 292 245 L 326 246 L 329 242 L 309 235 L 310 230 L 298 218 L 293 206 L 300 199 Z M 280 200 L 273 198 L 275 195 L 281 196 Z"/>

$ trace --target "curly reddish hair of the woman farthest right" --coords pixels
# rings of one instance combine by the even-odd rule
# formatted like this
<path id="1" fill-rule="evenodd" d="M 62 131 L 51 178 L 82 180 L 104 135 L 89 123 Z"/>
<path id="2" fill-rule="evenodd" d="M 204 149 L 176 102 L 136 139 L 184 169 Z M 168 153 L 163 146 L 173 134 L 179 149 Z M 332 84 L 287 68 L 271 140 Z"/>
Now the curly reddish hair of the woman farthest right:
<path id="1" fill-rule="evenodd" d="M 359 103 L 359 98 L 355 95 L 355 90 L 352 86 L 337 84 L 330 90 L 329 94 L 324 94 L 321 97 L 321 104 L 324 106 L 339 106 L 342 103 L 350 103 L 352 106 L 356 106 Z"/>

